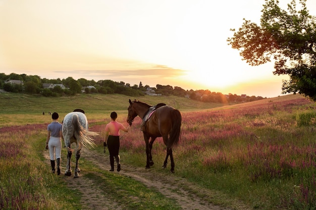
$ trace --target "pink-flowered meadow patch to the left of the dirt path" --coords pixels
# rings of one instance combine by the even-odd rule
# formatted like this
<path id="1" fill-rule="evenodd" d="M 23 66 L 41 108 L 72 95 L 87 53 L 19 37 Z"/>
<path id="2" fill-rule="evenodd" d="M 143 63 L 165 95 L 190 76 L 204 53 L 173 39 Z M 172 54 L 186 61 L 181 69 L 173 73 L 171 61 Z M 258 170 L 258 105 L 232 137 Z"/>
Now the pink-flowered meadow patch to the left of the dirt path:
<path id="1" fill-rule="evenodd" d="M 29 157 L 29 137 L 36 136 L 47 125 L 25 125 L 0 128 L 0 209 L 44 209 L 49 206 L 41 194 L 43 170 Z M 26 174 L 25 176 L 21 176 Z"/>

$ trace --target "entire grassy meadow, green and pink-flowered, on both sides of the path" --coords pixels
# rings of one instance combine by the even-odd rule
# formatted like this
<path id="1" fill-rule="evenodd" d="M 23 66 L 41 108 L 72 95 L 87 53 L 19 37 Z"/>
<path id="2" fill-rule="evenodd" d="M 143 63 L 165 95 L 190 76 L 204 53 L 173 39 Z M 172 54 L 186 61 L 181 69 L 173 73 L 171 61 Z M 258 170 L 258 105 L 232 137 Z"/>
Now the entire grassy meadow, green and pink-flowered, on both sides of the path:
<path id="1" fill-rule="evenodd" d="M 127 124 L 128 99 L 122 95 L 44 98 L 0 94 L 0 141 L 4 145 L 0 149 L 0 208 L 7 205 L 16 209 L 8 204 L 10 198 L 15 198 L 13 203 L 24 206 L 23 209 L 37 209 L 36 205 L 41 205 L 39 209 L 63 209 L 69 203 L 72 207 L 68 205 L 68 209 L 80 209 L 80 194 L 73 195 L 62 187 L 56 176 L 45 175 L 49 169 L 41 151 L 50 116 L 42 112 L 57 111 L 62 119 L 75 108 L 84 109 L 91 129 L 101 133 L 96 138 L 95 151 L 102 153 L 102 130 L 110 120 L 108 115 L 117 111 L 118 121 Z M 314 103 L 299 95 L 225 106 L 177 97 L 145 96 L 137 100 L 150 105 L 164 102 L 182 112 L 182 140 L 174 149 L 174 176 L 225 195 L 213 197 L 212 202 L 236 209 L 241 208 L 231 200 L 239 200 L 249 209 L 316 209 Z M 132 132 L 124 135 L 120 154 L 126 164 L 144 167 L 139 124 L 138 118 Z M 158 138 L 152 150 L 154 161 L 163 163 L 165 152 L 162 139 Z M 90 167 L 98 171 L 95 166 Z M 158 167 L 154 170 L 168 173 Z M 21 171 L 25 176 L 20 175 Z M 122 189 L 138 185 L 124 180 L 126 177 L 111 178 Z M 155 195 L 154 202 L 162 199 L 156 192 L 144 191 Z M 165 202 L 161 209 L 177 208 L 172 200 Z M 150 203 L 143 205 L 159 209 Z"/>

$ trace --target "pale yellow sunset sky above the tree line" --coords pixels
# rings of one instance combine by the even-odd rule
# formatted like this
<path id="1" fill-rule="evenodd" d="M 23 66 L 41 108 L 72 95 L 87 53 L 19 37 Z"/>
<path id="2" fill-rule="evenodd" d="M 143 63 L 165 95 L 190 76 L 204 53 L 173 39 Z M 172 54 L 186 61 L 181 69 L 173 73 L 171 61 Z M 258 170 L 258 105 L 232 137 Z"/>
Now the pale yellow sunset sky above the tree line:
<path id="1" fill-rule="evenodd" d="M 226 41 L 243 18 L 259 24 L 264 4 L 0 0 L 0 73 L 276 97 L 288 77 L 274 76 L 273 63 L 248 65 Z M 316 15 L 316 1 L 306 4 Z"/>

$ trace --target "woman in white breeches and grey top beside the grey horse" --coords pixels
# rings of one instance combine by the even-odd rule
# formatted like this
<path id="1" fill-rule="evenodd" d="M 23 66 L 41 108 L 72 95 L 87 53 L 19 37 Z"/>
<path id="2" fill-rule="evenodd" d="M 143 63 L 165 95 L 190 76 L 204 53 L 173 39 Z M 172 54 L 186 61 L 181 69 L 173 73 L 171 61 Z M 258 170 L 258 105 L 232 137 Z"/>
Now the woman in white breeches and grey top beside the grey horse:
<path id="1" fill-rule="evenodd" d="M 52 113 L 52 122 L 47 125 L 46 150 L 49 149 L 51 172 L 55 173 L 55 153 L 57 160 L 57 174 L 61 174 L 61 154 L 62 154 L 62 128 L 63 125 L 58 122 L 57 112 Z"/>

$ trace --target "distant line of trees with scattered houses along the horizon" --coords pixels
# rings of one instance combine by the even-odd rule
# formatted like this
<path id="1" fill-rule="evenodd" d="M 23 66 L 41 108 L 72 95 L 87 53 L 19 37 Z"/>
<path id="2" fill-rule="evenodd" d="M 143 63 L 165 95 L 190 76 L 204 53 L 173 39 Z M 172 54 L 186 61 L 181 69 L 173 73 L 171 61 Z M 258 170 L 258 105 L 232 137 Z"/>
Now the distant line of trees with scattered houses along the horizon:
<path id="1" fill-rule="evenodd" d="M 8 80 L 20 80 L 23 85 L 6 83 Z M 66 88 L 63 89 L 60 86 L 55 86 L 52 89 L 43 88 L 43 84 L 62 84 Z M 93 88 L 88 88 L 92 87 Z M 85 87 L 85 88 L 84 88 Z M 84 88 L 84 89 L 83 89 Z M 76 94 L 123 94 L 127 96 L 143 96 L 145 95 L 148 85 L 143 86 L 140 82 L 139 85 L 131 86 L 124 82 L 114 82 L 112 80 L 86 80 L 80 78 L 78 80 L 68 77 L 66 79 L 41 79 L 36 75 L 25 75 L 11 73 L 6 75 L 0 73 L 0 89 L 4 89 L 7 92 L 12 93 L 25 93 L 25 94 L 40 94 L 45 97 L 60 97 L 64 95 L 76 95 Z M 151 89 L 156 94 L 162 94 L 164 96 L 179 96 L 187 97 L 192 100 L 199 100 L 203 102 L 212 103 L 243 103 L 249 101 L 261 100 L 261 96 L 238 96 L 236 94 L 224 95 L 219 92 L 211 92 L 209 90 L 184 90 L 180 87 L 172 87 L 170 85 L 159 85 Z"/>

